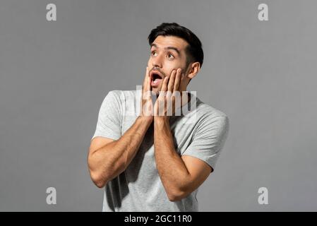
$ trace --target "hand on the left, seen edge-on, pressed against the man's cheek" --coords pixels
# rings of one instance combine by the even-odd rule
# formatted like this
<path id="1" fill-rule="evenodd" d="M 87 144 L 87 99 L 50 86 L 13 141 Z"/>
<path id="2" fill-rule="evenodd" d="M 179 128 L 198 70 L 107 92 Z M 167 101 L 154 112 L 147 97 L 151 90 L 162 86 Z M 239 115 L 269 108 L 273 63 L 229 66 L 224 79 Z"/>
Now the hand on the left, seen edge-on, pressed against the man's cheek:
<path id="1" fill-rule="evenodd" d="M 153 103 L 151 97 L 151 79 L 148 66 L 146 67 L 145 78 L 142 86 L 142 98 L 140 100 L 140 108 L 140 117 L 152 123 Z"/>

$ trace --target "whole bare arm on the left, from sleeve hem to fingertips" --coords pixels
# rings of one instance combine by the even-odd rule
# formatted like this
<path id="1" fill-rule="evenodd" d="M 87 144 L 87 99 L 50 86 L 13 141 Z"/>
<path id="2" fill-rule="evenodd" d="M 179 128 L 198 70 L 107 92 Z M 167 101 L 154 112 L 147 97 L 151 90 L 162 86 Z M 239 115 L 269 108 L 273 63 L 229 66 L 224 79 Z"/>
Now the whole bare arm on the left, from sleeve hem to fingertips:
<path id="1" fill-rule="evenodd" d="M 96 137 L 92 139 L 88 154 L 88 167 L 92 181 L 102 188 L 107 182 L 124 172 L 140 147 L 153 117 L 152 99 L 148 93 L 150 90 L 150 78 L 146 69 L 143 81 L 142 100 L 140 100 L 140 116 L 130 129 L 119 140 Z M 145 107 L 143 107 L 145 106 Z"/>

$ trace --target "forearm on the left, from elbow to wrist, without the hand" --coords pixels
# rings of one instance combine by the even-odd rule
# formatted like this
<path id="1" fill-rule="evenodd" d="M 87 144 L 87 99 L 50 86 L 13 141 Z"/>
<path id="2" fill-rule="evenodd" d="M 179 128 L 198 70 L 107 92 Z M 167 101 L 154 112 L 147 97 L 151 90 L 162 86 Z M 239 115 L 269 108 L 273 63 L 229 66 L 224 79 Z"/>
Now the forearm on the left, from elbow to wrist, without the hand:
<path id="1" fill-rule="evenodd" d="M 108 143 L 90 154 L 88 157 L 90 173 L 95 177 L 97 186 L 104 186 L 124 172 L 136 155 L 149 126 L 150 121 L 138 117 L 119 140 Z"/>

